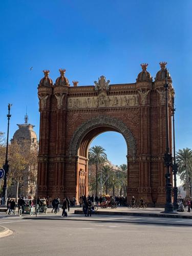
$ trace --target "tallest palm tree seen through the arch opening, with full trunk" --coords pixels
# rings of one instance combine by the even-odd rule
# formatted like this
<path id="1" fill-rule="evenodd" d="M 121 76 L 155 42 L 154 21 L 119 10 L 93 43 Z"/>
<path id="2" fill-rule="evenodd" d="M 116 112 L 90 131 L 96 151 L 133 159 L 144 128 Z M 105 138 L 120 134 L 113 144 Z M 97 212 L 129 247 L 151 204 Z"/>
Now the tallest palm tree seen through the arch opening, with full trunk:
<path id="1" fill-rule="evenodd" d="M 92 146 L 89 150 L 89 164 L 96 166 L 96 191 L 95 196 L 98 194 L 98 165 L 106 162 L 107 157 L 105 150 L 102 146 Z"/>

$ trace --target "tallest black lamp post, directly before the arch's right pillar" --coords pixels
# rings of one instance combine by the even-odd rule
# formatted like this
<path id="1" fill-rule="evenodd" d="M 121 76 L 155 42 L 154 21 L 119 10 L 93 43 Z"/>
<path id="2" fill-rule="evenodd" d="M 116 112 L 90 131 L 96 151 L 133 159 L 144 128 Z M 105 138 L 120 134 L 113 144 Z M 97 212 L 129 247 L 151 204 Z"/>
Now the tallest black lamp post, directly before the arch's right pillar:
<path id="1" fill-rule="evenodd" d="M 172 204 L 172 183 L 170 183 L 170 166 L 172 166 L 172 154 L 169 152 L 169 133 L 168 133 L 168 81 L 167 81 L 167 69 L 165 69 L 165 128 L 166 128 L 166 152 L 164 154 L 164 163 L 166 167 L 166 203 L 164 212 L 173 212 L 174 206 Z"/>

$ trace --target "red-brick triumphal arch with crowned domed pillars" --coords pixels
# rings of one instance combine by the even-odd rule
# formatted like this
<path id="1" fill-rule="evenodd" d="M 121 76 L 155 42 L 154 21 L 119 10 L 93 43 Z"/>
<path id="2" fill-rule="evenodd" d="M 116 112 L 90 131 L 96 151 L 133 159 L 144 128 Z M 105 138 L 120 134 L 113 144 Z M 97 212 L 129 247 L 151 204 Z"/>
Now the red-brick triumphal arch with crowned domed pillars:
<path id="1" fill-rule="evenodd" d="M 53 84 L 49 71 L 38 85 L 40 134 L 38 195 L 60 198 L 88 193 L 88 150 L 100 133 L 121 133 L 127 144 L 127 201 L 132 196 L 150 204 L 165 203 L 166 62 L 160 62 L 155 80 L 141 64 L 136 82 L 110 84 L 101 76 L 95 85 L 70 86 L 60 69 Z M 169 82 L 169 138 L 172 148 L 171 99 Z"/>

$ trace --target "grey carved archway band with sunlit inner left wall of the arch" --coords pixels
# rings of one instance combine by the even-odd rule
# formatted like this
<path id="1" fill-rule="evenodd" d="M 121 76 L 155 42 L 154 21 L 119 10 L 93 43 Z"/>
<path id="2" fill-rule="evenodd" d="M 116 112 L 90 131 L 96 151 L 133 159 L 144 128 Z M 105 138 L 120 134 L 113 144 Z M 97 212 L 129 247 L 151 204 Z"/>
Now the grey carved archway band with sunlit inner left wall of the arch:
<path id="1" fill-rule="evenodd" d="M 88 151 L 91 142 L 104 132 L 120 133 L 126 142 L 127 156 L 135 157 L 136 145 L 130 129 L 119 119 L 110 116 L 98 116 L 90 119 L 78 127 L 70 143 L 70 155 L 77 157 L 76 184 L 77 198 L 88 195 Z M 126 162 L 127 164 L 127 162 Z M 129 176 L 127 164 L 127 177 Z"/>

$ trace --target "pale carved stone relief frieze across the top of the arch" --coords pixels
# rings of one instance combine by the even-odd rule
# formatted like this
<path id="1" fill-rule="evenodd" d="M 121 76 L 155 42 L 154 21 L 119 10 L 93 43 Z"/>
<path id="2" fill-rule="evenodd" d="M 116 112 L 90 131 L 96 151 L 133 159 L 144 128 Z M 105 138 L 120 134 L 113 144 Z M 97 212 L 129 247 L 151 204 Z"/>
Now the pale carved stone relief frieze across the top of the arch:
<path id="1" fill-rule="evenodd" d="M 108 96 L 100 94 L 98 97 L 68 98 L 68 109 L 138 106 L 138 102 L 138 95 Z"/>

